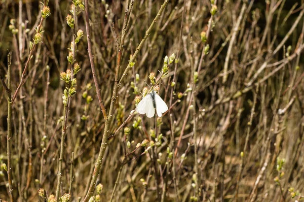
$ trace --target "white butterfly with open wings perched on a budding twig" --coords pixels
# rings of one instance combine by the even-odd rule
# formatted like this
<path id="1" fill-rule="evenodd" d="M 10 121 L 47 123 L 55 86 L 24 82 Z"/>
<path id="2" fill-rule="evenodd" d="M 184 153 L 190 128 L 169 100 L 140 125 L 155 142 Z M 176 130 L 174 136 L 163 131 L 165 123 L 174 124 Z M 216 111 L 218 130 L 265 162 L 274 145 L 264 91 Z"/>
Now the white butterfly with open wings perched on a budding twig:
<path id="1" fill-rule="evenodd" d="M 151 91 L 138 103 L 136 112 L 146 114 L 148 118 L 151 118 L 154 117 L 155 110 L 157 115 L 161 117 L 162 113 L 168 110 L 168 106 L 155 91 Z"/>

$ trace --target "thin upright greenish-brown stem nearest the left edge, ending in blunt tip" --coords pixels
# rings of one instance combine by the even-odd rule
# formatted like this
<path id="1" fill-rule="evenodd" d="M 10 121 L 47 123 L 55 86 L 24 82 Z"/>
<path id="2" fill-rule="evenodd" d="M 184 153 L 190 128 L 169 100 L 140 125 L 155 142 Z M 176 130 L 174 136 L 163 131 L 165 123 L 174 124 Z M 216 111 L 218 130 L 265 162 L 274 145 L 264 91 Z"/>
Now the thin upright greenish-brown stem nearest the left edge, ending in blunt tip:
<path id="1" fill-rule="evenodd" d="M 11 54 L 8 54 L 8 136 L 7 136 L 7 147 L 8 147 L 8 179 L 9 179 L 9 191 L 10 200 L 14 201 L 13 197 L 13 183 L 12 183 L 12 167 L 11 167 L 11 153 L 12 153 L 12 103 L 11 103 Z"/>

